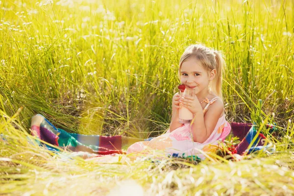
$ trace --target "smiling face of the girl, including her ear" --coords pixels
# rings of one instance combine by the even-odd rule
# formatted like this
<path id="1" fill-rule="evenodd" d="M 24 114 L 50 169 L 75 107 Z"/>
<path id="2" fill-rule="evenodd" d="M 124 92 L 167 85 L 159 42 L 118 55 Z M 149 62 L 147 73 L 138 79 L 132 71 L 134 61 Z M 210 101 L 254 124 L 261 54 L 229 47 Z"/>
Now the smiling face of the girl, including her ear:
<path id="1" fill-rule="evenodd" d="M 196 95 L 202 90 L 208 90 L 209 82 L 214 77 L 215 70 L 207 72 L 194 58 L 182 63 L 180 69 L 181 83 L 186 88 L 195 89 Z"/>

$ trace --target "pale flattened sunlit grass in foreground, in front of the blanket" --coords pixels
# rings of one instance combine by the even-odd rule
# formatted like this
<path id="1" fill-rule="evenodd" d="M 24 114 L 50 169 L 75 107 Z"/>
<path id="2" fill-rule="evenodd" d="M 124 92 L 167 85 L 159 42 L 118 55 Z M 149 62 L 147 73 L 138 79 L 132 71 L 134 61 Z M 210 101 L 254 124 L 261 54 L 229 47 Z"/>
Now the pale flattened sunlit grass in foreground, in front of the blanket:
<path id="1" fill-rule="evenodd" d="M 3 116 L 6 116 L 1 112 Z M 15 119 L 2 117 L 0 131 L 1 194 L 11 195 L 105 195 L 117 191 L 140 195 L 292 195 L 293 154 L 285 141 L 275 143 L 274 154 L 252 154 L 240 162 L 156 159 L 118 155 L 101 159 L 70 159 L 34 144 L 34 138 Z M 294 131 L 290 131 L 293 135 Z M 31 141 L 31 142 L 28 142 Z M 177 170 L 175 170 L 177 169 Z"/>

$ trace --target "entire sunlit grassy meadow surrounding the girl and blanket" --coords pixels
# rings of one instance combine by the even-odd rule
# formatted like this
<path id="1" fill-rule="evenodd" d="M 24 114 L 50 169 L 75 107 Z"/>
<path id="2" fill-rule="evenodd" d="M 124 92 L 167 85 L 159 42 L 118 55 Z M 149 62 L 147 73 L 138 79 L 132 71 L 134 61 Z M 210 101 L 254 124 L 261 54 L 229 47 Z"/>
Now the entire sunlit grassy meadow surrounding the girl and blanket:
<path id="1" fill-rule="evenodd" d="M 0 195 L 294 195 L 293 42 L 293 0 L 0 0 Z M 74 133 L 164 133 L 195 43 L 225 56 L 227 121 L 256 123 L 274 153 L 97 163 L 28 142 L 35 114 Z"/>

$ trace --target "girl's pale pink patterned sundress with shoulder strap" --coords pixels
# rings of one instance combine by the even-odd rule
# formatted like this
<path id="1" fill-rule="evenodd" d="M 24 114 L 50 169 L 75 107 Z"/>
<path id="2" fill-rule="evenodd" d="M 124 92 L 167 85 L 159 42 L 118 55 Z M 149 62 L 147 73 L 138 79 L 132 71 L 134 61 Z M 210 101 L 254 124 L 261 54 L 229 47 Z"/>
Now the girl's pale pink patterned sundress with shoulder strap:
<path id="1" fill-rule="evenodd" d="M 205 111 L 207 107 L 212 104 L 216 99 L 213 98 L 210 101 L 208 100 L 207 105 L 203 109 Z M 150 141 L 137 142 L 128 147 L 127 154 L 142 152 L 146 154 L 147 152 L 152 152 L 153 150 L 164 150 L 166 154 L 172 156 L 181 157 L 181 156 L 197 156 L 200 159 L 205 159 L 205 151 L 209 151 L 212 145 L 218 145 L 219 141 L 223 141 L 225 137 L 230 133 L 231 126 L 225 120 L 225 115 L 223 115 L 209 138 L 203 142 L 198 143 L 193 141 L 193 136 L 191 133 L 190 123 L 183 124 L 182 126 L 176 128 L 170 132 L 170 129 L 165 133 L 156 138 L 151 139 Z"/>

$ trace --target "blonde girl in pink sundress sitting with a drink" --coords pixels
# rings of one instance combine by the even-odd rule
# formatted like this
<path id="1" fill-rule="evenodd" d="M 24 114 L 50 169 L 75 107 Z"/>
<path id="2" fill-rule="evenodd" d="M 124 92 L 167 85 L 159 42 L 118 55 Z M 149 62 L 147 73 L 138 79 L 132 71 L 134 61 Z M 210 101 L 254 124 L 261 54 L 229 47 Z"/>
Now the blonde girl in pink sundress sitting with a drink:
<path id="1" fill-rule="evenodd" d="M 164 150 L 173 156 L 196 155 L 205 158 L 211 145 L 230 133 L 225 120 L 221 99 L 221 54 L 202 45 L 189 46 L 180 58 L 179 77 L 186 88 L 195 89 L 195 97 L 172 98 L 172 121 L 169 130 L 150 141 L 137 142 L 127 149 L 132 152 Z M 193 114 L 192 123 L 179 123 L 179 109 L 188 108 Z"/>

